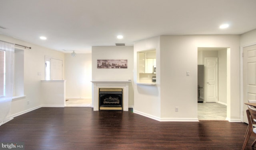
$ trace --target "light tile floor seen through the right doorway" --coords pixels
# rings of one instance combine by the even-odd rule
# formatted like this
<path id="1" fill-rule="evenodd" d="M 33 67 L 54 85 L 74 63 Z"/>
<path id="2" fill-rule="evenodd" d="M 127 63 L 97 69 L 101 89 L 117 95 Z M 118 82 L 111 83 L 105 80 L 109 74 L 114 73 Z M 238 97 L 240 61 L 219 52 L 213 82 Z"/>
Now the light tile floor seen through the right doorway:
<path id="1" fill-rule="evenodd" d="M 227 106 L 220 103 L 198 103 L 198 120 L 226 120 Z"/>

